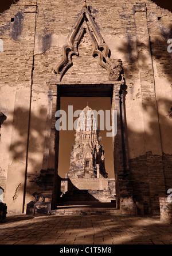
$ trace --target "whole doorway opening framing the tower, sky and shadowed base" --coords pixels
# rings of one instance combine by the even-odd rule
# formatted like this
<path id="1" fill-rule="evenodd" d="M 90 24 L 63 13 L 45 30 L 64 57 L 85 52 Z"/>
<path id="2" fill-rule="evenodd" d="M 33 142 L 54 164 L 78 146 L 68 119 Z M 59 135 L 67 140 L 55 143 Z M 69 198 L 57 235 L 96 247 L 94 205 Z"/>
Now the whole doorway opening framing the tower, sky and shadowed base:
<path id="1" fill-rule="evenodd" d="M 76 127 L 72 131 L 60 131 L 58 206 L 109 203 L 115 207 L 113 146 L 112 137 L 108 137 L 112 130 L 111 98 L 61 97 L 61 110 L 67 113 L 67 127 L 71 127 L 69 115 L 80 114 L 73 119 Z"/>

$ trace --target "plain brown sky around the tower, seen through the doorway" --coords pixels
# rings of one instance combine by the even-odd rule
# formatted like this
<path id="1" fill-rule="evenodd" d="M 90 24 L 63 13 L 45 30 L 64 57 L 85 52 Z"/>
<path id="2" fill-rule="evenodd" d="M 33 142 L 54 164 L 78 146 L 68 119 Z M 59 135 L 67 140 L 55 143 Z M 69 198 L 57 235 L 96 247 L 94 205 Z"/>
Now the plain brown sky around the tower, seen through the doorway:
<path id="1" fill-rule="evenodd" d="M 92 110 L 103 111 L 104 123 L 105 123 L 105 111 L 111 111 L 111 97 L 61 97 L 60 108 L 67 113 L 67 128 L 68 128 L 68 107 L 73 106 L 73 113 L 77 110 L 82 111 L 84 107 L 89 105 Z M 102 112 L 100 112 L 101 114 Z M 73 123 L 78 117 L 73 118 Z M 100 144 L 103 145 L 105 152 L 105 170 L 108 173 L 108 178 L 115 178 L 114 174 L 114 156 L 112 138 L 107 137 L 106 126 L 104 130 L 100 130 L 100 115 L 97 115 L 97 125 L 99 128 Z M 110 125 L 110 124 L 108 124 Z M 61 130 L 59 141 L 59 155 L 58 155 L 58 175 L 61 178 L 65 178 L 65 175 L 69 172 L 70 167 L 70 152 L 72 145 L 75 145 L 76 130 Z M 85 166 L 89 167 L 89 161 L 85 162 Z"/>

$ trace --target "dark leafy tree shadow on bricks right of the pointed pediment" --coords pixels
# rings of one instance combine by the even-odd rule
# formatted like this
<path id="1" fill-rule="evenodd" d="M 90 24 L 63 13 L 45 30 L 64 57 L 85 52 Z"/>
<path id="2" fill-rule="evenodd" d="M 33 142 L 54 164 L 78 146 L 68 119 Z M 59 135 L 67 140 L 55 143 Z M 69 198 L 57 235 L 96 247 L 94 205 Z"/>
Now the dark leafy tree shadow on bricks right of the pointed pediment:
<path id="1" fill-rule="evenodd" d="M 150 14 L 151 16 L 151 14 Z M 153 16 L 153 19 L 157 18 L 155 15 Z M 152 18 L 150 17 L 150 24 L 152 21 Z M 152 25 L 150 25 L 151 27 Z M 150 37 L 150 48 L 151 48 L 151 55 L 153 59 L 155 60 L 155 65 L 159 74 L 159 78 L 167 78 L 169 82 L 172 84 L 172 42 L 171 44 L 167 41 L 169 39 L 172 40 L 172 25 L 170 27 L 166 27 L 163 22 L 155 21 L 154 26 L 157 27 L 157 30 L 159 32 L 159 36 L 153 36 L 153 32 L 151 33 Z M 151 29 L 151 28 L 150 28 Z M 147 70 L 147 77 L 150 78 L 150 80 L 153 80 L 152 75 L 150 74 L 150 68 L 147 65 L 147 55 L 144 54 L 144 50 L 146 50 L 147 46 L 143 42 L 137 42 L 137 48 L 136 44 L 134 42 L 134 39 L 131 35 L 126 35 L 128 42 L 123 43 L 120 47 L 118 47 L 118 51 L 122 52 L 122 54 L 126 54 L 128 56 L 128 61 L 123 62 L 124 66 L 124 77 L 132 80 L 134 78 L 133 73 L 138 73 L 139 75 L 139 64 L 138 64 L 138 57 L 136 56 L 135 52 L 139 52 L 139 61 L 142 63 L 140 67 L 142 69 L 145 68 Z M 171 45 L 171 46 L 170 46 Z M 170 50 L 170 52 L 169 52 Z M 143 51 L 143 54 L 142 54 Z M 154 70 L 155 71 L 155 70 Z"/>

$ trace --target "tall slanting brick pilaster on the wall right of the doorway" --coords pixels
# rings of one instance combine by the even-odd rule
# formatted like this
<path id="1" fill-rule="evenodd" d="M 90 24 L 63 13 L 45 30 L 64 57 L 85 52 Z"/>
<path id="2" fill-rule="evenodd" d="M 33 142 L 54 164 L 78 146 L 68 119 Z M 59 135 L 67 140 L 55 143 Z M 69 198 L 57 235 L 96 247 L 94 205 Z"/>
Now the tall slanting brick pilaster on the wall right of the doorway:
<path id="1" fill-rule="evenodd" d="M 140 88 L 143 107 L 144 147 L 149 180 L 151 212 L 159 211 L 159 197 L 166 194 L 165 174 L 162 164 L 162 141 L 158 106 L 155 93 L 153 59 L 147 27 L 145 3 L 134 5 L 136 46 L 140 71 Z M 150 118 L 151 117 L 151 118 Z"/>

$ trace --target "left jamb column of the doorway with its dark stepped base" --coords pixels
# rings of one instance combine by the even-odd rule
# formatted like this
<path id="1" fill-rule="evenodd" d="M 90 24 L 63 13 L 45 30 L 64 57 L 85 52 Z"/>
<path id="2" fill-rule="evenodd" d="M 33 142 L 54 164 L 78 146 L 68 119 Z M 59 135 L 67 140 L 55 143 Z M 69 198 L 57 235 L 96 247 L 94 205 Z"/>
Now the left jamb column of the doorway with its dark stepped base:
<path id="1" fill-rule="evenodd" d="M 56 111 L 60 110 L 60 95 L 57 84 L 51 84 L 50 82 L 47 82 L 47 84 L 49 86 L 49 104 L 42 170 L 39 176 L 32 178 L 30 181 L 28 172 L 27 182 L 29 186 L 26 190 L 26 194 L 36 194 L 38 201 L 31 201 L 33 197 L 27 197 L 25 207 L 28 214 L 34 212 L 48 214 L 50 209 L 56 209 L 61 192 L 61 178 L 58 176 L 59 131 L 55 127 Z M 30 174 L 32 173 L 30 172 Z M 32 185 L 30 185 L 30 182 Z M 42 198 L 44 198 L 43 201 Z"/>

